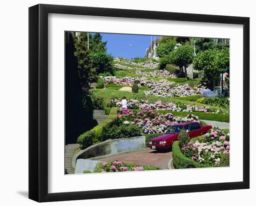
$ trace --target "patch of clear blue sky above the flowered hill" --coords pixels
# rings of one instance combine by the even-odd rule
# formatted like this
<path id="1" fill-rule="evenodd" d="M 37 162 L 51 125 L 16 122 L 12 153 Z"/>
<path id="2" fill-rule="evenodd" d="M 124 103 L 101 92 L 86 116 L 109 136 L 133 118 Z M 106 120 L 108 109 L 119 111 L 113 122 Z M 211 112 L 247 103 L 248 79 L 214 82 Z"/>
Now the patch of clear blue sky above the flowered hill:
<path id="1" fill-rule="evenodd" d="M 150 35 L 133 34 L 112 34 L 101 33 L 102 41 L 107 41 L 107 53 L 114 57 L 124 57 L 131 59 L 134 57 L 144 57 L 146 48 L 150 46 Z M 160 38 L 155 36 L 155 39 Z M 152 36 L 154 40 L 154 36 Z M 130 45 L 130 46 L 129 46 Z"/>

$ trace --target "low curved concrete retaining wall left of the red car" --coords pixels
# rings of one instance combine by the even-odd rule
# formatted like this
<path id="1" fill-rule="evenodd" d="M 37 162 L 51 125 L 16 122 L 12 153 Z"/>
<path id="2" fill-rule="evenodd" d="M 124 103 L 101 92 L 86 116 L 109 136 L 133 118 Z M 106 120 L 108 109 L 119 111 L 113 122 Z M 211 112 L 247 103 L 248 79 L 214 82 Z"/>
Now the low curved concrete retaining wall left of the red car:
<path id="1" fill-rule="evenodd" d="M 117 140 L 107 140 L 76 153 L 72 166 L 75 168 L 77 159 L 89 159 L 108 154 L 117 154 L 145 148 L 145 136 L 123 138 Z"/>

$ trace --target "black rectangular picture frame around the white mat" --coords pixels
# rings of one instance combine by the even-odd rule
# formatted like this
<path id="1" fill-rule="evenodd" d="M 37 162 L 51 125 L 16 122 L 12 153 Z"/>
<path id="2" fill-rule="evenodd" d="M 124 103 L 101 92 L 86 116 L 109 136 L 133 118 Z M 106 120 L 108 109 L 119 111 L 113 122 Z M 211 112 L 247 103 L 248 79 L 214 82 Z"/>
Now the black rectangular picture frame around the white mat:
<path id="1" fill-rule="evenodd" d="M 243 181 L 48 193 L 48 13 L 243 25 Z M 29 199 L 98 199 L 249 188 L 249 18 L 39 4 L 29 7 Z"/>

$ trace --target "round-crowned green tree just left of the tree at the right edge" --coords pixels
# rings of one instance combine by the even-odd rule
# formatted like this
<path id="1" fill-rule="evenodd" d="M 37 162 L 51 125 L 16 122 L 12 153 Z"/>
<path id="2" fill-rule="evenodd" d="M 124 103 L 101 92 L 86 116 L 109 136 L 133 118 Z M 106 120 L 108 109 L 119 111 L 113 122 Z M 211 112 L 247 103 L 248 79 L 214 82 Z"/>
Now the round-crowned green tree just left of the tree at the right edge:
<path id="1" fill-rule="evenodd" d="M 188 44 L 178 47 L 169 55 L 170 63 L 178 66 L 182 75 L 184 74 L 184 71 L 185 71 L 186 78 L 187 78 L 187 67 L 193 62 L 193 59 L 194 59 L 194 50 Z"/>

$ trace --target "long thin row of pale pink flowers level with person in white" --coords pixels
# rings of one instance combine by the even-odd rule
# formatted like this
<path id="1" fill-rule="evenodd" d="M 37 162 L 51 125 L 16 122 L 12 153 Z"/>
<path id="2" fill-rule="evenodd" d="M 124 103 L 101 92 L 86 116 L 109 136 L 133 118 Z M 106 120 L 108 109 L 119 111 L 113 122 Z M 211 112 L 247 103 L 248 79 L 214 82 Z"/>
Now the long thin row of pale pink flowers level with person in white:
<path id="1" fill-rule="evenodd" d="M 112 106 L 121 107 L 121 99 L 112 99 Z M 176 112 L 203 112 L 203 113 L 224 113 L 222 110 L 213 109 L 209 106 L 187 105 L 182 103 L 168 102 L 163 103 L 161 100 L 154 104 L 149 104 L 148 100 L 128 100 L 128 109 L 153 109 L 168 110 Z"/>

